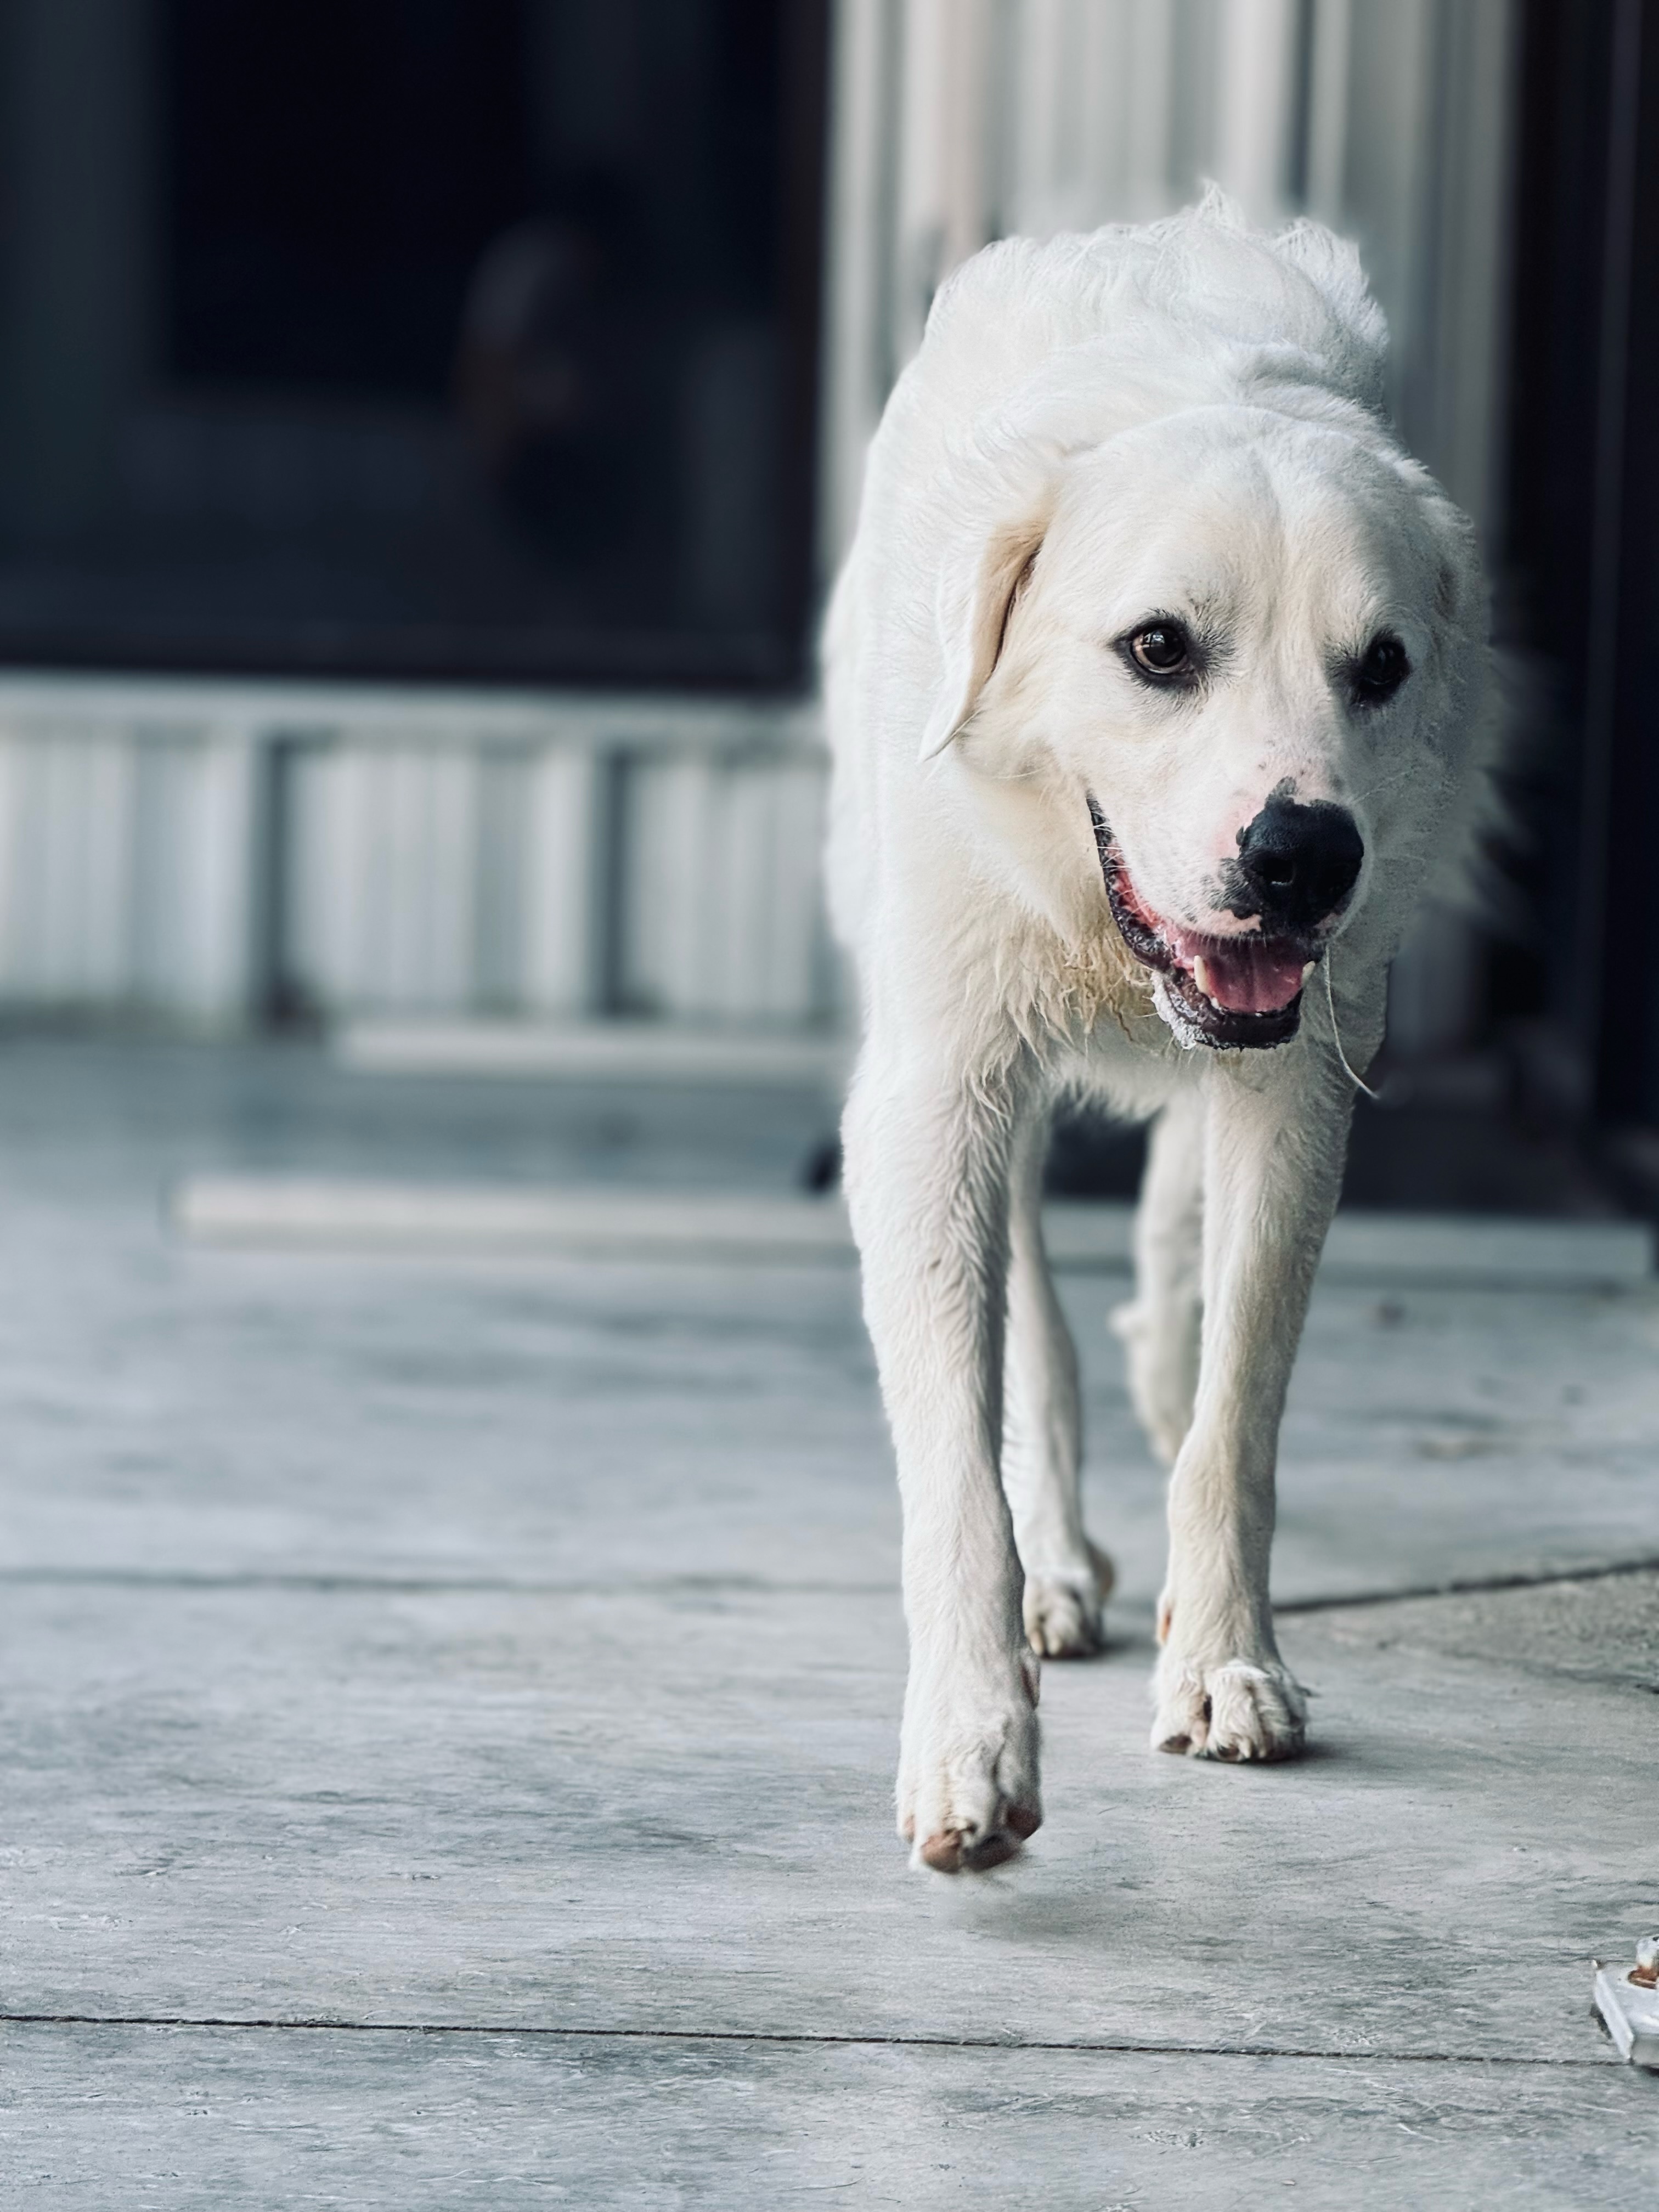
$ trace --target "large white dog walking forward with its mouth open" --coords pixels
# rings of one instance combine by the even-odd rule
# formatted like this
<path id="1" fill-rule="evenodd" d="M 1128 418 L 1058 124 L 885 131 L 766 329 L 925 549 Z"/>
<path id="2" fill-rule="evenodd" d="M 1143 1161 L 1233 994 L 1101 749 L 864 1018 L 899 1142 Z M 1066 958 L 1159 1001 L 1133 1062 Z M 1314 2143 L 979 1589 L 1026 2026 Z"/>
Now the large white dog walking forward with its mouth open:
<path id="1" fill-rule="evenodd" d="M 1121 1316 L 1172 1464 L 1152 1743 L 1290 1759 L 1274 1458 L 1389 958 L 1486 768 L 1471 524 L 1389 431 L 1354 248 L 1219 195 L 1011 239 L 933 301 L 825 630 L 863 993 L 845 1181 L 898 1455 L 898 1827 L 1042 1820 L 1037 1655 L 1088 1652 L 1048 1117 L 1152 1124 Z"/>

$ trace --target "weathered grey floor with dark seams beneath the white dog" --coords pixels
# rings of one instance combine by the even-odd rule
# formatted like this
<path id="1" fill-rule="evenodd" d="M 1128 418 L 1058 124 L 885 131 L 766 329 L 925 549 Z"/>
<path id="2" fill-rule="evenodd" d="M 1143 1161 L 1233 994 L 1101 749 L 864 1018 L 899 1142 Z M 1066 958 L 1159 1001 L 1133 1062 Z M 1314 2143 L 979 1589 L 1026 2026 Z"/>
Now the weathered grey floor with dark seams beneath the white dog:
<path id="1" fill-rule="evenodd" d="M 1241 1772 L 1146 1750 L 1159 1478 L 1068 1279 L 1115 1644 L 951 1882 L 847 1270 L 159 1225 L 226 1166 L 785 1188 L 818 1126 L 0 1048 L 0 2203 L 1650 2203 L 1588 2020 L 1659 1924 L 1646 1285 L 1321 1290 L 1314 1754 Z M 1458 1582 L 1515 1586 L 1385 1595 Z"/>

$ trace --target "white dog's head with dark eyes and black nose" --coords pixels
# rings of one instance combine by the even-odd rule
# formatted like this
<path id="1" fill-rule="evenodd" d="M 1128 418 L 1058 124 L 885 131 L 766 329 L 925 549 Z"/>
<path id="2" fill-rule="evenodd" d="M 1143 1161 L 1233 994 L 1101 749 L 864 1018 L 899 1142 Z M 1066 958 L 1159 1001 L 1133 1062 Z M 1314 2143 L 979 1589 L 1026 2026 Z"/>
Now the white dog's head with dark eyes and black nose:
<path id="1" fill-rule="evenodd" d="M 1340 931 L 1391 949 L 1438 858 L 1484 593 L 1369 416 L 1192 407 L 1057 462 L 945 644 L 925 750 L 1086 807 L 1177 1037 L 1270 1046 Z"/>

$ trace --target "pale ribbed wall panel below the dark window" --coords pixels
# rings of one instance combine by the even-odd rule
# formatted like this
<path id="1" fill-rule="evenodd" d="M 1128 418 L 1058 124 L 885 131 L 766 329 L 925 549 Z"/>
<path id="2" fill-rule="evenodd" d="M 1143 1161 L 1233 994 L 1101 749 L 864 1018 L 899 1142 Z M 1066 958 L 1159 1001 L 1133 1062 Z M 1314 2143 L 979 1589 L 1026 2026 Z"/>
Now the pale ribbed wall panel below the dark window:
<path id="1" fill-rule="evenodd" d="M 0 679 L 0 1004 L 814 1026 L 810 708 Z"/>

